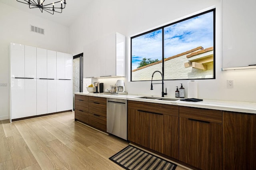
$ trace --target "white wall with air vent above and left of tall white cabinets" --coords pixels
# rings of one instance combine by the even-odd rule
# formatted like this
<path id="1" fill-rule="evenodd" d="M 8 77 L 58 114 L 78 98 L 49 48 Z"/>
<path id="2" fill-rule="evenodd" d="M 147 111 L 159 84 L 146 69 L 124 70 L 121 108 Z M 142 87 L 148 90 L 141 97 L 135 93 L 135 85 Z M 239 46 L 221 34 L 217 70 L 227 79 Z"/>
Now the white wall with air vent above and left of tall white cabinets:
<path id="1" fill-rule="evenodd" d="M 68 27 L 66 26 L 2 3 L 0 3 L 0 24 L 0 83 L 8 83 L 8 45 L 10 42 L 69 52 Z M 30 24 L 44 28 L 45 35 L 30 32 Z M 8 119 L 8 87 L 0 87 L 0 120 L 3 119 Z"/>

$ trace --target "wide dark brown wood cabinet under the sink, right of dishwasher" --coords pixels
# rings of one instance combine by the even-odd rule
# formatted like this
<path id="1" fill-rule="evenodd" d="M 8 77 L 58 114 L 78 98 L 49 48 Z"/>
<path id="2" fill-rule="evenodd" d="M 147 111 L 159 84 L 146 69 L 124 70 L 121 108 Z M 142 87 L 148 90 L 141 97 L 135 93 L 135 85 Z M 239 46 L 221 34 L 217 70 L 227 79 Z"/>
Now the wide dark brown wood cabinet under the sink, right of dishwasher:
<path id="1" fill-rule="evenodd" d="M 178 159 L 178 106 L 128 101 L 128 140 Z"/>

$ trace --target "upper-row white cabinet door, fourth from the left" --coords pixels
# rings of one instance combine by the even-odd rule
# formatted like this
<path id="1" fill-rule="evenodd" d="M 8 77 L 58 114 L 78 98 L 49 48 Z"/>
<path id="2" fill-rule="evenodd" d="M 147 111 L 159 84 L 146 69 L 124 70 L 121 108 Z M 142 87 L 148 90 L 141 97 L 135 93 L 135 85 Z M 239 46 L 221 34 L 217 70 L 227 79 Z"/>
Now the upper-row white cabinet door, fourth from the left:
<path id="1" fill-rule="evenodd" d="M 56 51 L 47 50 L 47 79 L 56 79 Z"/>

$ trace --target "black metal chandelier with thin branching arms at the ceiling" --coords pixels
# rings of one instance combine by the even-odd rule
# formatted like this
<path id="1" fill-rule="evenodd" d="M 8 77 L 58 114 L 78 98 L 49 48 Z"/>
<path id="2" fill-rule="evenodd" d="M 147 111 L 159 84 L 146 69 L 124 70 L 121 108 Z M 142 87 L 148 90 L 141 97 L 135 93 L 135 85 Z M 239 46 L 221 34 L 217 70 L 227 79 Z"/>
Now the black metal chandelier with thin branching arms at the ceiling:
<path id="1" fill-rule="evenodd" d="M 49 0 L 17 0 L 23 4 L 28 4 L 29 8 L 39 8 L 41 12 L 46 11 L 50 14 L 54 14 L 54 12 L 62 13 L 62 9 L 66 6 L 66 0 L 64 0 L 64 5 L 62 4 L 62 0 L 58 2 L 51 2 Z M 46 2 L 45 2 L 46 1 Z"/>

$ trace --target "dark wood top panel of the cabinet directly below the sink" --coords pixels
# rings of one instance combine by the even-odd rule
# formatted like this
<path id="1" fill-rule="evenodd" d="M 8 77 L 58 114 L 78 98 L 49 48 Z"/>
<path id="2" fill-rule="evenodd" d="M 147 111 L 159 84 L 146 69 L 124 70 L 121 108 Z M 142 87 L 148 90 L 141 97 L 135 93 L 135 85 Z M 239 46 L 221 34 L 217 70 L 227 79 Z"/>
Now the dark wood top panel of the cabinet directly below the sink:
<path id="1" fill-rule="evenodd" d="M 175 105 L 165 105 L 159 103 L 149 103 L 141 101 L 128 101 L 128 108 L 139 111 L 153 112 L 164 115 L 178 116 L 179 107 Z"/>

